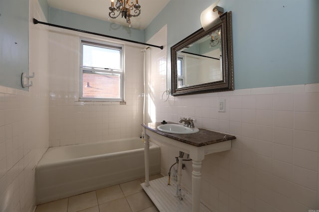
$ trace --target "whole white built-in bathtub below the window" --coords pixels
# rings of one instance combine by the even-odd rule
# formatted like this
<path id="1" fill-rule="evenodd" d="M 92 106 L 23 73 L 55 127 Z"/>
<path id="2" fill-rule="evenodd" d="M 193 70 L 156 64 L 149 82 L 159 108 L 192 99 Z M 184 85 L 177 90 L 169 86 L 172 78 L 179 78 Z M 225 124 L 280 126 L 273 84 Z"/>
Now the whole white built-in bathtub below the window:
<path id="1" fill-rule="evenodd" d="M 150 142 L 150 174 L 160 173 L 160 146 Z M 35 167 L 36 203 L 70 197 L 145 175 L 140 138 L 50 147 Z"/>

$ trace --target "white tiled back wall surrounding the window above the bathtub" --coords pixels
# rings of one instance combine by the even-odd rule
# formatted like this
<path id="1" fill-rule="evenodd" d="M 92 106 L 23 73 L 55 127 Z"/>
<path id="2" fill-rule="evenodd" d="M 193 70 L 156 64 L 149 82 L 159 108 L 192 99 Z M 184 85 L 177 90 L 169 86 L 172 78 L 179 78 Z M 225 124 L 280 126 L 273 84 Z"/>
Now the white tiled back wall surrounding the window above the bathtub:
<path id="1" fill-rule="evenodd" d="M 64 33 L 56 28 L 49 34 L 50 146 L 140 137 L 143 48 L 125 44 L 126 105 L 79 102 L 79 43 L 82 37 L 103 40 L 87 34 Z"/>

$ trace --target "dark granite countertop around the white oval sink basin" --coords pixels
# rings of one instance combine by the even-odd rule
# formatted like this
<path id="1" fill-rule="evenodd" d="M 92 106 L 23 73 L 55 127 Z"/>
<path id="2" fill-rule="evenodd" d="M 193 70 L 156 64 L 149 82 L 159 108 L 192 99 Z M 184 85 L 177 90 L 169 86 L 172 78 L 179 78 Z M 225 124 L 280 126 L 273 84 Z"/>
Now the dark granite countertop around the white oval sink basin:
<path id="1" fill-rule="evenodd" d="M 167 124 L 176 124 L 173 122 L 167 122 Z M 142 124 L 143 127 L 158 133 L 162 136 L 165 136 L 167 138 L 188 143 L 190 145 L 194 146 L 205 146 L 213 143 L 218 143 L 222 141 L 229 141 L 236 139 L 235 136 L 223 134 L 223 133 L 217 133 L 214 131 L 209 131 L 205 129 L 199 129 L 198 133 L 194 134 L 173 134 L 173 133 L 164 133 L 157 129 L 159 125 L 162 125 L 160 122 L 156 123 L 148 123 L 148 124 Z"/>

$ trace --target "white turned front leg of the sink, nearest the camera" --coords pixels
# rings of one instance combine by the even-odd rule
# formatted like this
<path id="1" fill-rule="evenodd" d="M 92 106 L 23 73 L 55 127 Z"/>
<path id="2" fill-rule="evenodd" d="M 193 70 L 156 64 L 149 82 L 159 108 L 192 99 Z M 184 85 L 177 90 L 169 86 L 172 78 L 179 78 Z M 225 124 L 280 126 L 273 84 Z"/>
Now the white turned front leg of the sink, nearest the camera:
<path id="1" fill-rule="evenodd" d="M 199 212 L 200 188 L 201 188 L 201 160 L 192 160 L 192 212 Z"/>

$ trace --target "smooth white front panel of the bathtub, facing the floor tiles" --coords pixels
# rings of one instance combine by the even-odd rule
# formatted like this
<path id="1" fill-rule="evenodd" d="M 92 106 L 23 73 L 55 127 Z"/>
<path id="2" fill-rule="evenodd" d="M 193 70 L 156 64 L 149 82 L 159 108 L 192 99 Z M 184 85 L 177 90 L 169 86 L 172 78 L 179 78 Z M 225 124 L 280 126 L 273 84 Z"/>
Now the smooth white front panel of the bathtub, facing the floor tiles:
<path id="1" fill-rule="evenodd" d="M 150 174 L 158 173 L 160 147 L 152 143 Z M 37 204 L 47 203 L 144 177 L 144 148 L 42 164 L 35 174 Z"/>

